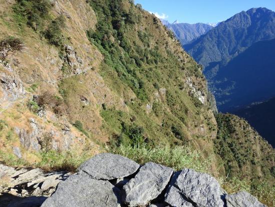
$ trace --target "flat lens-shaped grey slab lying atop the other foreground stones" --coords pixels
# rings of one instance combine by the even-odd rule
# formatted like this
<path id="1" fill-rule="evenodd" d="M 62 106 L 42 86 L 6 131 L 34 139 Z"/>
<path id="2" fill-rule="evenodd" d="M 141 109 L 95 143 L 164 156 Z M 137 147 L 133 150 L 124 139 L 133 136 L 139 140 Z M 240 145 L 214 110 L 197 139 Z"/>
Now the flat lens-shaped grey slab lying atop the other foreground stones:
<path id="1" fill-rule="evenodd" d="M 135 173 L 138 168 L 139 164 L 126 157 L 111 153 L 101 153 L 84 162 L 79 167 L 79 171 L 86 172 L 97 180 L 111 180 L 127 177 Z"/>

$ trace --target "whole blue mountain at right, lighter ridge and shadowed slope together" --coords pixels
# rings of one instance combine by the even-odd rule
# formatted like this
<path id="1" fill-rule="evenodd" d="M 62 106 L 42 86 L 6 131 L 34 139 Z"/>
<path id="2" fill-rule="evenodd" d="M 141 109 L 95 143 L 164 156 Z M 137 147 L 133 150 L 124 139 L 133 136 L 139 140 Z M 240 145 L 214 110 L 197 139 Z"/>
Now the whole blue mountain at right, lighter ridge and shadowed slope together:
<path id="1" fill-rule="evenodd" d="M 253 45 L 274 38 L 275 13 L 266 8 L 253 8 L 234 15 L 194 42 L 184 45 L 185 50 L 204 66 L 204 74 L 215 94 L 219 110 L 227 112 L 240 104 L 248 105 L 261 98 L 271 97 L 270 88 L 275 87 L 270 85 L 267 89 L 265 81 L 268 79 L 268 84 L 273 81 L 274 76 L 268 77 L 273 75 L 273 50 L 268 43 Z M 264 70 L 270 73 L 267 75 Z M 262 79 L 256 81 L 257 76 Z M 253 93 L 249 100 L 242 96 L 246 94 L 245 91 L 241 92 L 244 88 L 247 88 L 245 91 L 248 93 Z M 234 96 L 238 96 L 237 101 Z"/>

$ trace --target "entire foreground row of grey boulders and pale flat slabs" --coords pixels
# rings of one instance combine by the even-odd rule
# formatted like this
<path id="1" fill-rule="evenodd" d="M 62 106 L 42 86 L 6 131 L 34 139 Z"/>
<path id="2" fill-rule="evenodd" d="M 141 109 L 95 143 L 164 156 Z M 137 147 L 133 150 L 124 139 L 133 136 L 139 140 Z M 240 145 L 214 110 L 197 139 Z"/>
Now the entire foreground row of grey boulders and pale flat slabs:
<path id="1" fill-rule="evenodd" d="M 206 173 L 191 169 L 174 172 L 152 162 L 140 167 L 128 158 L 110 153 L 94 156 L 81 165 L 77 174 L 69 177 L 64 172 L 44 173 L 40 169 L 17 171 L 3 165 L 0 169 L 0 177 L 8 173 L 14 186 L 2 188 L 2 191 L 39 196 L 16 200 L 8 206 L 17 206 L 15 203 L 19 203 L 18 206 L 40 206 L 37 205 L 39 202 L 43 202 L 42 207 L 265 206 L 247 192 L 227 194 L 217 180 Z M 42 195 L 50 197 L 45 200 Z"/>

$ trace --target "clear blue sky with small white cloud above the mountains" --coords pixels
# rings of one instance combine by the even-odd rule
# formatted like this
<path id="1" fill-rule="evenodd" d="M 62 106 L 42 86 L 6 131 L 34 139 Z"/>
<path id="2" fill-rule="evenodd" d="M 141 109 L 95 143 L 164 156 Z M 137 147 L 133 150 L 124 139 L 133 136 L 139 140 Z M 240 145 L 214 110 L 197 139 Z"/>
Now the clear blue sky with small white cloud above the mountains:
<path id="1" fill-rule="evenodd" d="M 135 0 L 142 8 L 165 17 L 170 23 L 216 23 L 251 8 L 275 11 L 275 0 Z"/>

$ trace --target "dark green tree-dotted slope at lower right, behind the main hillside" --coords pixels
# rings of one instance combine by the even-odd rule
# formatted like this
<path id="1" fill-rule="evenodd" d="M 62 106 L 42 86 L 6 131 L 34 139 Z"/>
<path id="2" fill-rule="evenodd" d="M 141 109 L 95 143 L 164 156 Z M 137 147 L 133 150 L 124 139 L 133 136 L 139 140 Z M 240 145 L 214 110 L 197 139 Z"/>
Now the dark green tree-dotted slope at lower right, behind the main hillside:
<path id="1" fill-rule="evenodd" d="M 224 161 L 225 174 L 229 177 L 274 180 L 275 152 L 243 119 L 230 114 L 217 114 L 218 133 L 215 152 Z M 261 154 L 261 152 L 266 154 Z M 272 166 L 266 168 L 266 166 Z"/>

